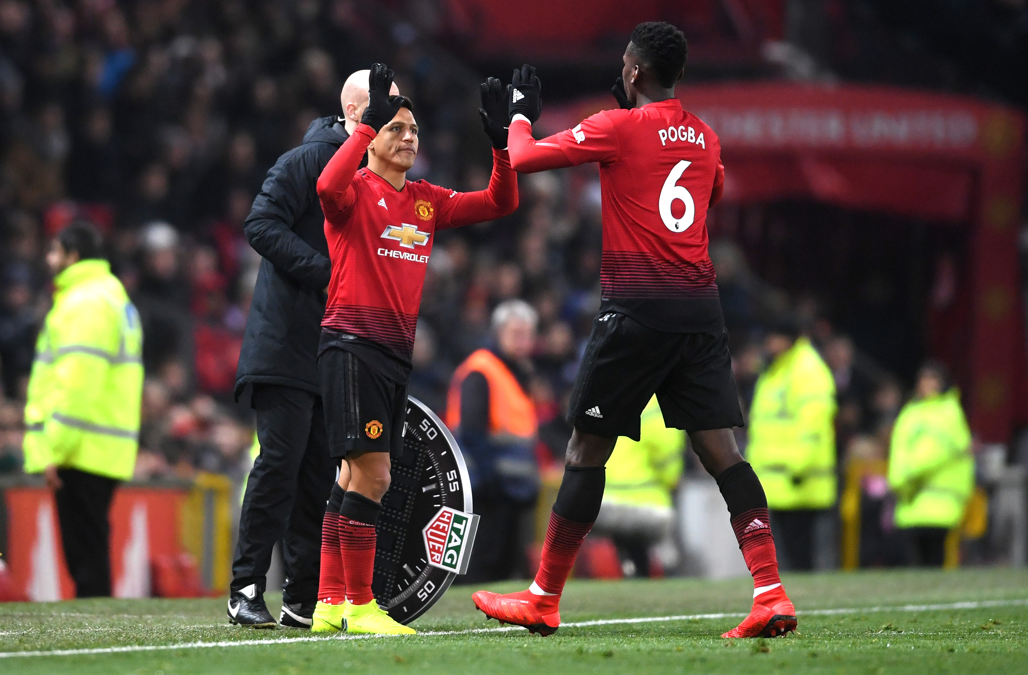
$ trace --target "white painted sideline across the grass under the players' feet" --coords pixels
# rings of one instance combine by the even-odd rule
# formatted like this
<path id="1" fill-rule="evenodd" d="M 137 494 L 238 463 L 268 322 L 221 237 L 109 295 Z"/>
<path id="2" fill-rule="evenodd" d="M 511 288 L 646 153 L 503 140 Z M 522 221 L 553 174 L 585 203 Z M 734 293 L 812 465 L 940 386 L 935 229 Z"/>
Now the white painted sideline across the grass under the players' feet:
<path id="1" fill-rule="evenodd" d="M 875 607 L 846 607 L 840 609 L 808 609 L 797 612 L 804 616 L 817 616 L 825 614 L 862 614 L 880 611 L 939 611 L 947 609 L 984 609 L 986 607 L 1008 607 L 1016 605 L 1028 605 L 1028 599 L 1019 600 L 971 600 L 965 602 L 948 602 L 931 605 L 895 605 L 895 606 L 875 606 Z M 94 615 L 94 614 L 90 614 Z M 711 618 L 730 618 L 733 616 L 745 616 L 744 612 L 728 611 L 714 614 L 677 614 L 673 616 L 637 616 L 635 618 L 597 618 L 590 622 L 572 622 L 561 624 L 561 628 L 585 628 L 589 626 L 614 626 L 620 624 L 654 624 L 663 622 L 687 622 Z M 219 624 L 220 626 L 220 624 Z M 439 636 L 439 635 L 473 635 L 476 633 L 509 633 L 511 631 L 523 630 L 520 626 L 502 626 L 500 628 L 473 628 L 463 631 L 421 631 L 418 635 Z M 135 651 L 169 651 L 172 649 L 205 649 L 211 647 L 249 647 L 263 644 L 293 644 L 295 642 L 329 642 L 344 640 L 363 640 L 373 637 L 396 637 L 384 635 L 338 635 L 326 637 L 295 637 L 295 638 L 274 638 L 270 640 L 219 640 L 217 642 L 182 642 L 179 644 L 134 644 L 123 647 L 94 647 L 86 649 L 52 649 L 50 651 L 0 651 L 0 659 L 11 659 L 15 657 L 80 657 L 104 653 L 127 653 Z"/>

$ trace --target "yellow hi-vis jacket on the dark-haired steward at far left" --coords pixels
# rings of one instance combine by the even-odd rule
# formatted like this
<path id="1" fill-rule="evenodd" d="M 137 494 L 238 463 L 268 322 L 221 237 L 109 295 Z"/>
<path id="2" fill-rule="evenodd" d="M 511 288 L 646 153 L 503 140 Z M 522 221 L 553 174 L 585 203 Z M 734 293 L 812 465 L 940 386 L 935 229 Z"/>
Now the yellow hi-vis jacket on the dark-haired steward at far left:
<path id="1" fill-rule="evenodd" d="M 25 471 L 47 465 L 125 480 L 139 448 L 143 329 L 106 260 L 53 279 L 25 407 Z"/>

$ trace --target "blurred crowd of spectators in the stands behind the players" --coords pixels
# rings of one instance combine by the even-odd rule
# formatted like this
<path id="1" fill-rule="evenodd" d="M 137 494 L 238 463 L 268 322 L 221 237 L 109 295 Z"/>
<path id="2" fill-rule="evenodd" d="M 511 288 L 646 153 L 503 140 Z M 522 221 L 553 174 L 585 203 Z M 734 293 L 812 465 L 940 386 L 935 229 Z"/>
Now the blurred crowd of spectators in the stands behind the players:
<path id="1" fill-rule="evenodd" d="M 423 129 L 409 178 L 465 190 L 488 180 L 477 76 L 421 39 L 431 6 L 397 18 L 353 0 L 0 0 L 0 472 L 19 465 L 21 402 L 50 297 L 46 242 L 85 218 L 104 230 L 144 324 L 137 478 L 242 480 L 252 426 L 232 389 L 259 262 L 242 225 L 276 158 L 313 119 L 340 112 L 346 75 L 383 61 Z M 847 452 L 884 458 L 903 383 L 816 303 L 761 284 L 731 240 L 715 239 L 711 256 L 744 409 L 766 364 L 761 327 L 791 311 L 835 377 L 840 466 Z M 491 309 L 523 298 L 540 315 L 529 393 L 543 445 L 561 456 L 599 264 L 594 167 L 522 177 L 513 216 L 440 233 L 411 395 L 441 412 L 453 368 L 490 339 Z"/>

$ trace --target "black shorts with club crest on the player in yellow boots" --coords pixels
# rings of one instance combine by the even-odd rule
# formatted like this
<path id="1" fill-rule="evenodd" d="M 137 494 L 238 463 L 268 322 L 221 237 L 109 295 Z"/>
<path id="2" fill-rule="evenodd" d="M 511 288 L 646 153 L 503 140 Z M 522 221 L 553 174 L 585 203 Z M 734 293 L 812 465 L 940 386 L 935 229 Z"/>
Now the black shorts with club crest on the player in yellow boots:
<path id="1" fill-rule="evenodd" d="M 318 357 L 328 448 L 333 459 L 365 452 L 403 453 L 407 385 L 394 382 L 353 352 L 329 347 Z"/>

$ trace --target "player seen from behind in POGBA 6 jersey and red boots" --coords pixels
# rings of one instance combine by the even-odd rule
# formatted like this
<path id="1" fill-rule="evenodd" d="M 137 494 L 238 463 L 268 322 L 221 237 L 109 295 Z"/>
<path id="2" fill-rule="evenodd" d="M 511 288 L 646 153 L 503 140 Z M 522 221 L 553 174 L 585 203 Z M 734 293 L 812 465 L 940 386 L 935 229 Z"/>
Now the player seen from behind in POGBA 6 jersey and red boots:
<path id="1" fill-rule="evenodd" d="M 599 164 L 602 302 L 572 392 L 563 481 L 527 591 L 472 597 L 487 616 L 549 635 L 579 547 L 603 494 L 604 464 L 619 436 L 639 438 L 639 415 L 656 393 L 668 426 L 686 429 L 718 480 L 754 575 L 749 616 L 723 637 L 773 637 L 796 630 L 796 610 L 778 578 L 764 489 L 732 435 L 742 424 L 706 213 L 725 170 L 718 137 L 674 98 L 688 45 L 670 24 L 635 27 L 622 77 L 621 106 L 541 141 L 535 69 L 515 71 L 509 89 L 510 157 L 519 172 Z"/>

